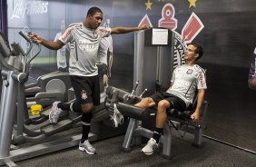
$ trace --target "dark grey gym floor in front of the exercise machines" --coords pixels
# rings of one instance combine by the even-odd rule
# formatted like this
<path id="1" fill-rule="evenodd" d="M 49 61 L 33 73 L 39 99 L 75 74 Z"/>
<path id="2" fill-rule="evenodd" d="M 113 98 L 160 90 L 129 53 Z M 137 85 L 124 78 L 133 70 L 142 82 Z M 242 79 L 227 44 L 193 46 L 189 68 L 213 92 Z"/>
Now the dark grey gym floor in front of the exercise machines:
<path id="1" fill-rule="evenodd" d="M 73 147 L 60 152 L 53 152 L 33 159 L 16 162 L 20 167 L 34 166 L 183 166 L 183 167 L 255 167 L 256 156 L 250 152 L 233 148 L 220 142 L 214 142 L 207 138 L 202 139 L 202 148 L 194 148 L 191 145 L 192 135 L 187 133 L 183 138 L 175 131 L 172 132 L 172 159 L 163 159 L 161 149 L 151 156 L 141 152 L 143 145 L 134 145 L 132 152 L 121 151 L 124 135 L 111 139 L 93 142 L 97 149 L 95 155 L 88 155 Z"/>

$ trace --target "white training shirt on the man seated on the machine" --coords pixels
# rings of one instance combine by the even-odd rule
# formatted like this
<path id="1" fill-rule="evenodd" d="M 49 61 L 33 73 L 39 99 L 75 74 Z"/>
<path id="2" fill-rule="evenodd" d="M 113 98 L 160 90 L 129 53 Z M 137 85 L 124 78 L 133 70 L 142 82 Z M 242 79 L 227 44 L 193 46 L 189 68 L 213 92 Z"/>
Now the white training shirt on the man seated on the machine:
<path id="1" fill-rule="evenodd" d="M 175 68 L 172 74 L 172 93 L 180 97 L 187 105 L 192 103 L 197 89 L 206 89 L 205 71 L 197 64 L 183 64 Z"/>

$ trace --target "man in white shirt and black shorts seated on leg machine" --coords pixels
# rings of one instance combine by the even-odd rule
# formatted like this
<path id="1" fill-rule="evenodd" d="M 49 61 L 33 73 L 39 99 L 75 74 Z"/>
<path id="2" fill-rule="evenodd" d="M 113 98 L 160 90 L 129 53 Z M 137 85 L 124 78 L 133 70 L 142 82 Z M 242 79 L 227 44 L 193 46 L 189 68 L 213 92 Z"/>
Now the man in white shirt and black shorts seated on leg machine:
<path id="1" fill-rule="evenodd" d="M 184 111 L 191 103 L 196 90 L 198 90 L 198 102 L 195 112 L 192 113 L 192 121 L 199 121 L 202 107 L 204 90 L 206 87 L 205 72 L 195 62 L 202 57 L 203 49 L 199 44 L 188 44 L 184 53 L 185 64 L 178 66 L 172 74 L 171 87 L 165 93 L 155 93 L 144 98 L 135 106 L 150 108 L 157 105 L 156 124 L 153 137 L 143 147 L 142 152 L 147 155 L 153 154 L 158 147 L 164 123 L 167 122 L 166 110 L 175 108 Z"/>

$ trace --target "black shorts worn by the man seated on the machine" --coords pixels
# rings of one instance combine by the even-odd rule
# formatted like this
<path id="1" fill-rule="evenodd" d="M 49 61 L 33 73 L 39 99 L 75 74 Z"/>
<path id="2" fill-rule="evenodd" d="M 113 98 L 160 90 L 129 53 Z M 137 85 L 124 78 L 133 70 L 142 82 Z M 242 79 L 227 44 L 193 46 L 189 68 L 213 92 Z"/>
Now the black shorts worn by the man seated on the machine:
<path id="1" fill-rule="evenodd" d="M 180 112 L 183 112 L 187 108 L 186 103 L 181 98 L 171 93 L 160 92 L 155 93 L 150 97 L 153 99 L 153 102 L 156 103 L 156 105 L 164 99 L 170 103 L 170 108 L 177 109 Z"/>

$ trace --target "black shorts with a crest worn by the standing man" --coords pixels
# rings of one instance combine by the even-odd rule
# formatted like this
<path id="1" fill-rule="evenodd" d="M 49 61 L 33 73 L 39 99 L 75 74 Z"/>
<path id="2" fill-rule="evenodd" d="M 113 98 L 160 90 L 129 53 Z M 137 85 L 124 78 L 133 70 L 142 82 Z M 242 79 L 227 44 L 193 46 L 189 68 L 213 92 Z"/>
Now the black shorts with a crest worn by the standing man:
<path id="1" fill-rule="evenodd" d="M 94 105 L 100 104 L 101 96 L 99 75 L 71 75 L 70 78 L 74 88 L 75 98 L 79 103 L 94 103 Z"/>

